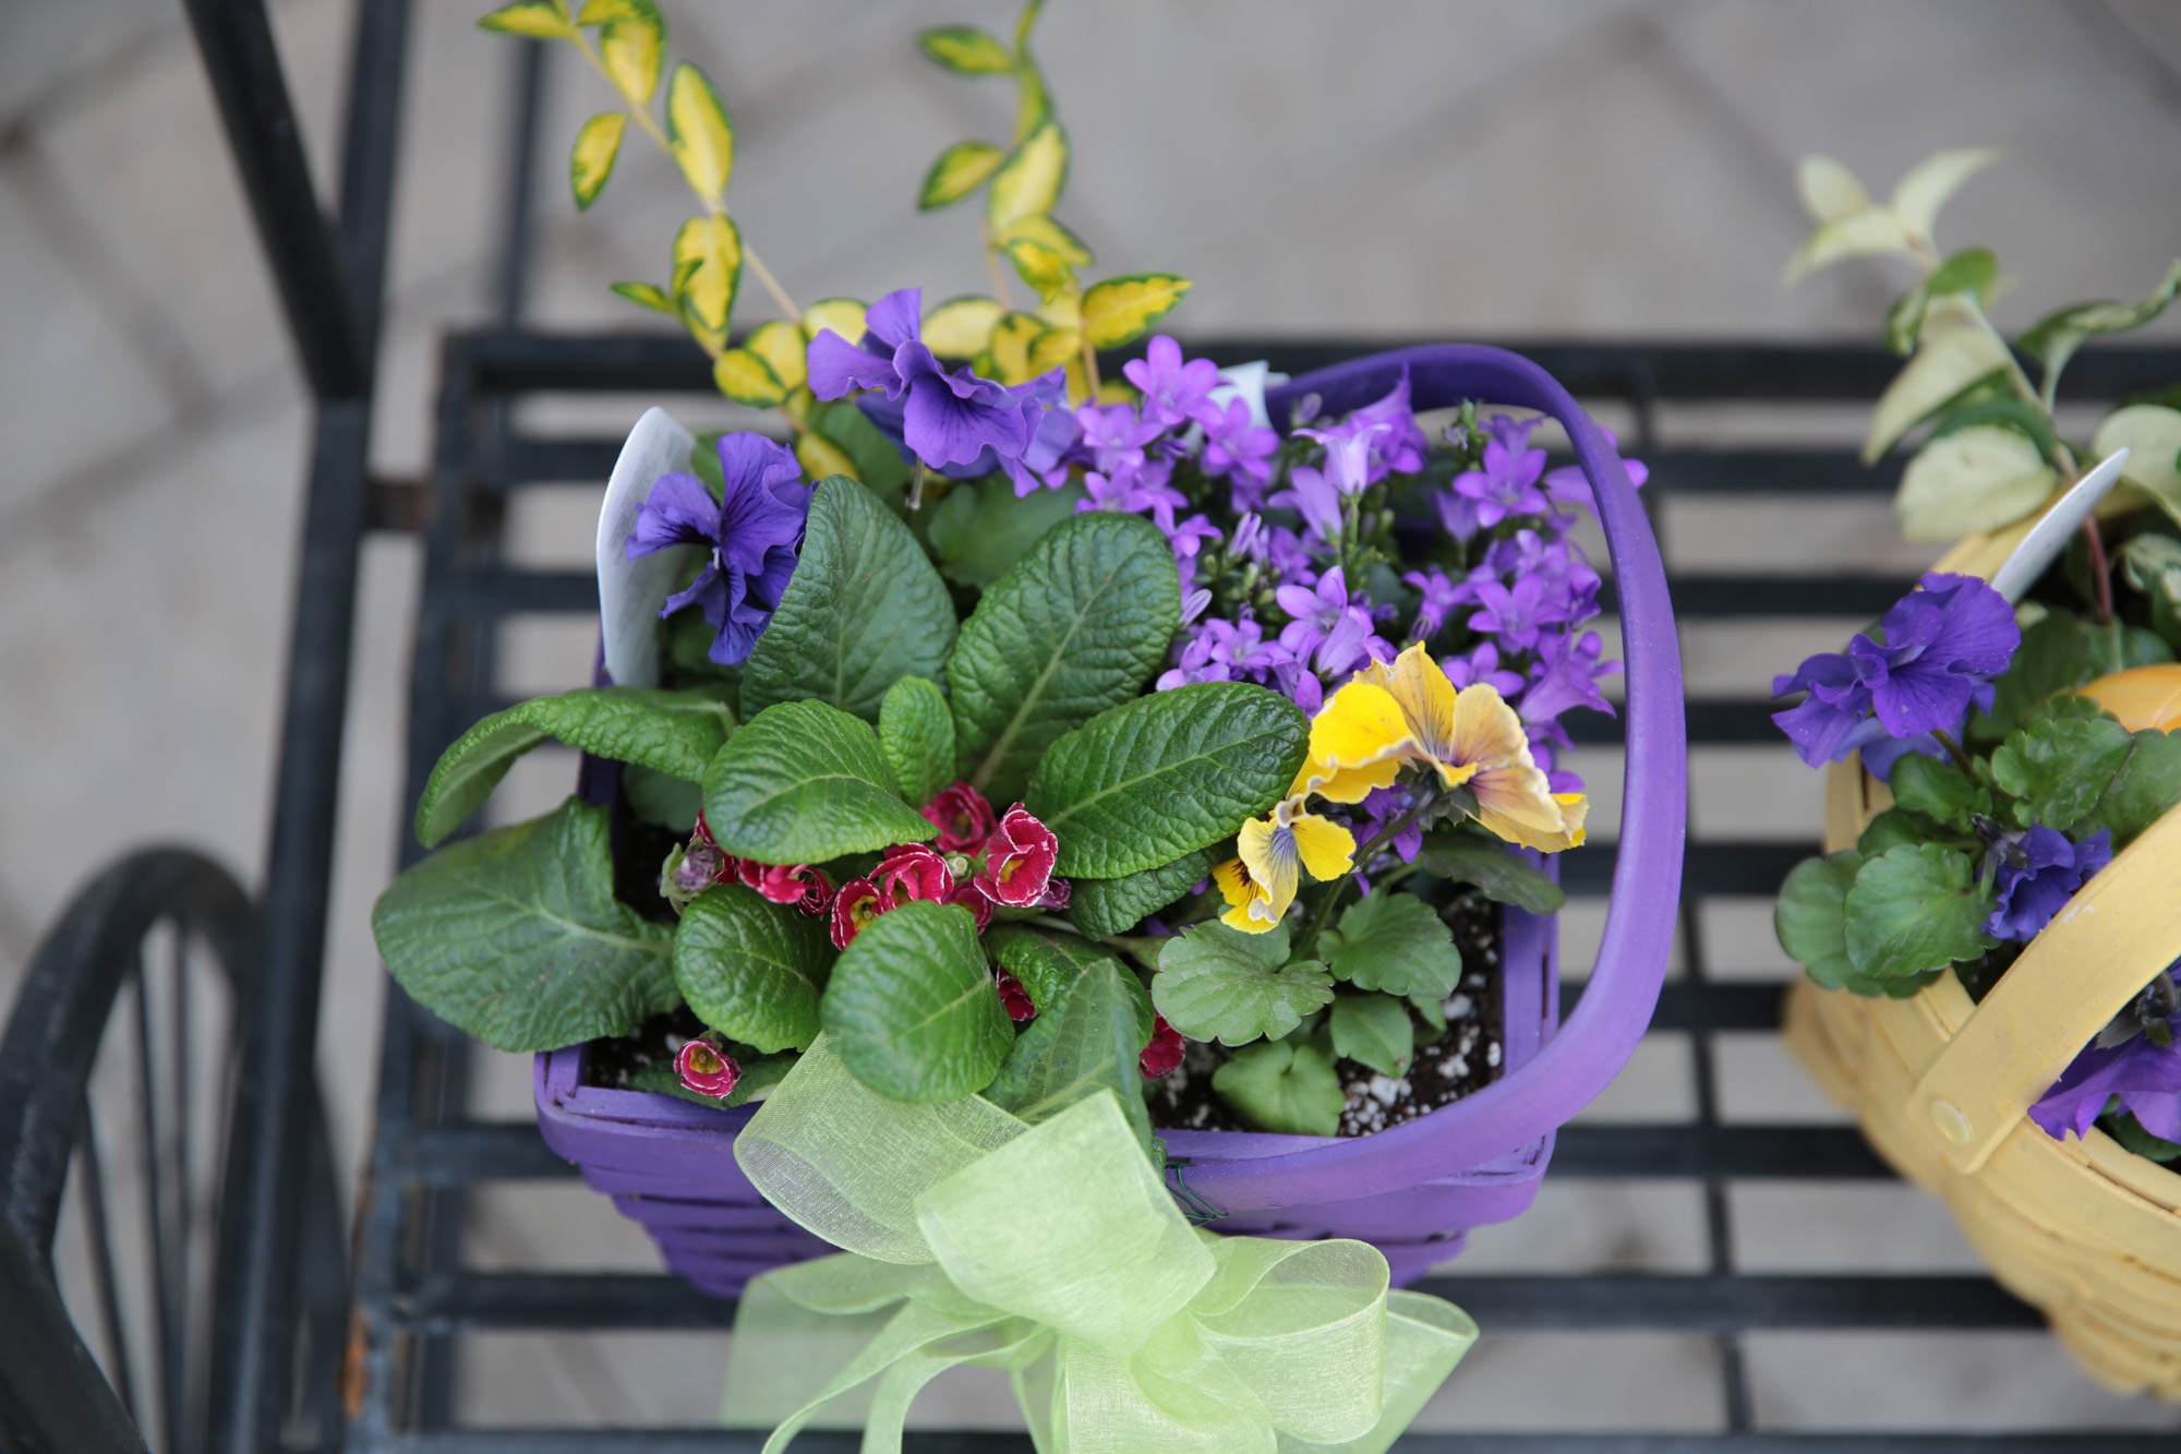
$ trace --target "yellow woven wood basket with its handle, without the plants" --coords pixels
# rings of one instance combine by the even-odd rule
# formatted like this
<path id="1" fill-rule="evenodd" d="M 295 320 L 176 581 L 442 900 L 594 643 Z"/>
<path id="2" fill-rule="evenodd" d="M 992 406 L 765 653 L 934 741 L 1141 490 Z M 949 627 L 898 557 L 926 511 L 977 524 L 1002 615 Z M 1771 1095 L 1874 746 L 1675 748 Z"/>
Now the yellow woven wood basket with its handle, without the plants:
<path id="1" fill-rule="evenodd" d="M 2028 526 L 1974 537 L 1939 570 L 1989 576 Z M 1839 762 L 1825 851 L 1893 795 Z M 2105 1131 L 2057 1142 L 2028 1120 L 2068 1063 L 2181 956 L 2181 808 L 2113 858 L 1972 1004 L 1945 976 L 1911 1000 L 1797 980 L 1784 1035 L 1902 1177 L 1941 1196 L 2015 1297 L 2120 1393 L 2181 1399 L 2181 1175 Z"/>

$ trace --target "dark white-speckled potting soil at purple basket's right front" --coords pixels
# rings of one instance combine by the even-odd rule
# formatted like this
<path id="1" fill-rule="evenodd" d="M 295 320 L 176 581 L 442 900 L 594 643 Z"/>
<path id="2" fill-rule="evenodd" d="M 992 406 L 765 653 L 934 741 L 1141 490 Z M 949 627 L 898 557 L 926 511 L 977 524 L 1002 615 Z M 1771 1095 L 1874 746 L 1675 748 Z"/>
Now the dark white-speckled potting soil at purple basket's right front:
<path id="1" fill-rule="evenodd" d="M 1398 1127 L 1498 1078 L 1505 1059 L 1498 906 L 1483 899 L 1461 902 L 1448 910 L 1448 928 L 1461 950 L 1461 987 L 1444 1002 L 1446 1033 L 1418 1046 L 1405 1076 L 1381 1074 L 1361 1061 L 1335 1061 L 1333 1070 L 1348 1094 L 1339 1135 L 1370 1135 Z M 1152 1124 L 1162 1131 L 1252 1131 L 1254 1127 L 1213 1089 L 1213 1076 L 1232 1057 L 1226 1046 L 1189 1041 L 1180 1070 L 1149 1094 Z"/>

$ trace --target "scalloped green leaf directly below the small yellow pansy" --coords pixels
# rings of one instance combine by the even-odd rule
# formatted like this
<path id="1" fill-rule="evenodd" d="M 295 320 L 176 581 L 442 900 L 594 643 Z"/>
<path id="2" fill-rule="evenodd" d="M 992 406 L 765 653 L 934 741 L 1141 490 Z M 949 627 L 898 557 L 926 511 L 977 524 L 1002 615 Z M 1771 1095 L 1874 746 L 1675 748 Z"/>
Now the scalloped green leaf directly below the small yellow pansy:
<path id="1" fill-rule="evenodd" d="M 1158 952 L 1152 1004 L 1189 1039 L 1241 1046 L 1287 1035 L 1333 1000 L 1333 976 L 1315 958 L 1287 963 L 1287 928 L 1243 934 L 1191 923 Z"/>

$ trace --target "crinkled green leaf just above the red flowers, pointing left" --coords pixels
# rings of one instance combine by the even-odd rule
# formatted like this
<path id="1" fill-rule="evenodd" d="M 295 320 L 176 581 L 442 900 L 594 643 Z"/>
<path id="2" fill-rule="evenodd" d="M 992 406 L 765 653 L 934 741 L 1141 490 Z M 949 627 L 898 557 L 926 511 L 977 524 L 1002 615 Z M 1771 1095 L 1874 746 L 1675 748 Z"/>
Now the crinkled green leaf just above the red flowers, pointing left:
<path id="1" fill-rule="evenodd" d="M 827 862 L 938 834 L 894 797 L 879 734 L 822 701 L 766 707 L 704 768 L 704 823 L 757 862 Z"/>

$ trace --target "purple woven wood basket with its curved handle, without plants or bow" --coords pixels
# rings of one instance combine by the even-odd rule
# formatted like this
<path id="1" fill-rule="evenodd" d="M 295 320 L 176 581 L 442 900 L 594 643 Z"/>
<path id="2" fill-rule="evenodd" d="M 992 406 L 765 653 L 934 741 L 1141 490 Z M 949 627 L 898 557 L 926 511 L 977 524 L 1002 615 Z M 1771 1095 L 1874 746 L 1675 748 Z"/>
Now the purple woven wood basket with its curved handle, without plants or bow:
<path id="1" fill-rule="evenodd" d="M 1383 397 L 1409 371 L 1415 408 L 1487 400 L 1557 419 L 1596 493 L 1612 555 L 1627 659 L 1627 766 L 1620 854 L 1599 961 L 1557 1024 L 1557 928 L 1516 908 L 1503 928 L 1501 1078 L 1376 1135 L 1330 1140 L 1167 1131 L 1169 1183 L 1219 1231 L 1374 1242 L 1394 1282 L 1453 1258 L 1470 1227 L 1518 1216 L 1553 1155 L 1553 1133 L 1620 1072 L 1642 1039 L 1666 972 L 1682 889 L 1688 758 L 1682 657 L 1666 570 L 1614 448 L 1544 369 L 1505 349 L 1426 345 L 1306 373 L 1267 395 L 1274 419 L 1304 395 L 1326 413 Z M 670 1268 L 733 1297 L 757 1273 L 833 1251 L 766 1205 L 735 1166 L 755 1107 L 582 1083 L 587 1048 L 537 1057 L 539 1131 L 585 1181 L 659 1242 Z"/>

